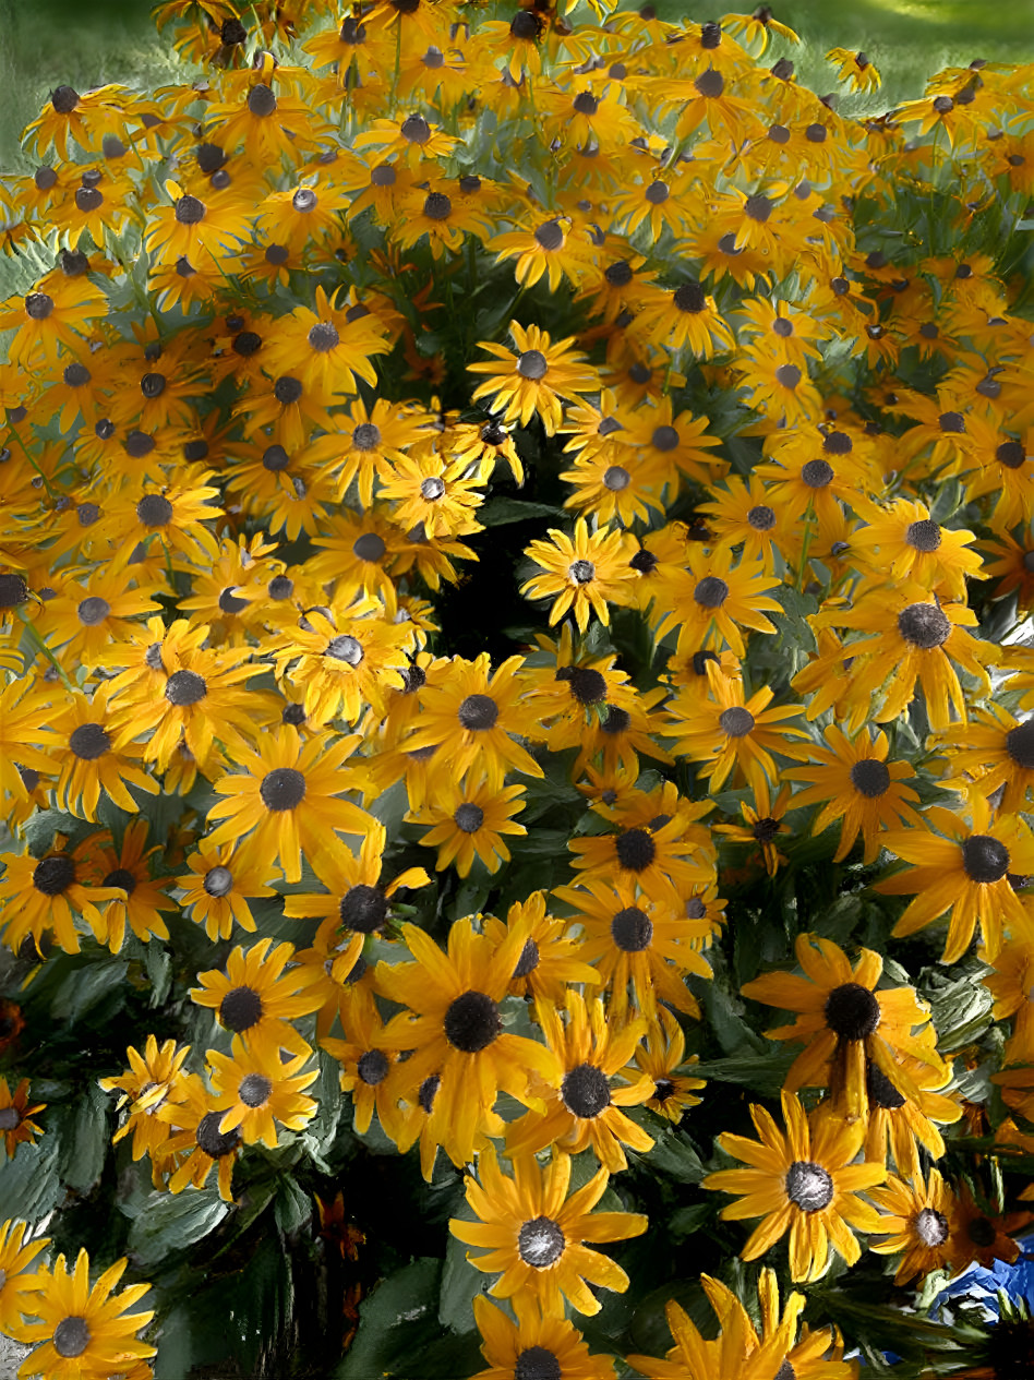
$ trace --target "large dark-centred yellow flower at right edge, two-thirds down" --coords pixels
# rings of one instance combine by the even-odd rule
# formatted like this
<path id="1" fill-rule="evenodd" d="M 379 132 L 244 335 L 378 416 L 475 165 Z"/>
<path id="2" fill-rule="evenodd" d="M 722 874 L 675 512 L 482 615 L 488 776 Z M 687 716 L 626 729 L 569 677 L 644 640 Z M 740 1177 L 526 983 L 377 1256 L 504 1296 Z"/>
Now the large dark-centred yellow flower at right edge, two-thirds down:
<path id="1" fill-rule="evenodd" d="M 895 934 L 915 934 L 950 912 L 944 963 L 965 954 L 980 926 L 987 956 L 1001 952 L 1009 927 L 1023 933 L 1027 912 L 1011 876 L 1034 872 L 1034 836 L 1020 816 L 993 818 L 988 802 L 977 795 L 964 814 L 932 805 L 924 828 L 888 829 L 882 843 L 899 858 L 915 864 L 875 883 L 885 896 L 913 900 L 895 926 Z"/>

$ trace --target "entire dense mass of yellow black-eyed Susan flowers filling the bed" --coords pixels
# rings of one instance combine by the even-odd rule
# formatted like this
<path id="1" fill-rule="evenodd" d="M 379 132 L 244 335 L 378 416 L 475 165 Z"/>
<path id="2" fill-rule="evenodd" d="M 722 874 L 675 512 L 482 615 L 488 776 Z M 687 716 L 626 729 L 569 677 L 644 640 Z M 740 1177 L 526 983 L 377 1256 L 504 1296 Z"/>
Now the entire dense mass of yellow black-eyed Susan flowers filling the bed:
<path id="1" fill-rule="evenodd" d="M 650 1225 L 621 1176 L 686 1143 L 687 1039 L 740 998 L 795 1050 L 781 1121 L 718 1110 L 703 1145 L 722 1219 L 759 1219 L 744 1261 L 813 1282 L 868 1245 L 921 1286 L 1017 1254 L 1034 76 L 852 120 L 762 61 L 794 41 L 766 8 L 569 10 L 168 0 L 203 80 L 61 86 L 29 126 L 0 182 L 37 269 L 0 305 L 8 996 L 73 955 L 166 983 L 170 1034 L 99 1081 L 163 1198 L 333 1158 L 338 1085 L 355 1134 L 465 1170 L 482 1380 L 846 1380 L 770 1268 L 761 1326 L 708 1275 L 715 1340 L 670 1301 L 667 1359 L 572 1317 L 628 1288 L 596 1249 Z M 518 650 L 454 654 L 479 534 L 516 523 L 526 625 L 487 592 L 474 633 Z M 780 887 L 816 871 L 839 896 L 801 920 Z M 937 959 L 977 1028 L 939 1027 Z M 48 1129 L 15 1035 L 8 1156 Z M 146 1286 L 26 1274 L 43 1245 L 0 1242 L 22 1373 L 150 1374 Z"/>

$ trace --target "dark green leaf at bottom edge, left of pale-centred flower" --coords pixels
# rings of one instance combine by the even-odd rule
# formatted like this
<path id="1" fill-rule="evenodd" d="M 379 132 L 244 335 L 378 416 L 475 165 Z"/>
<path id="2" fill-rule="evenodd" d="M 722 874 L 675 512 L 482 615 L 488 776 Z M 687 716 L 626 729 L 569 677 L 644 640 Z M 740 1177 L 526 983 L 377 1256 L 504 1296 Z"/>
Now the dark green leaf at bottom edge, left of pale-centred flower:
<path id="1" fill-rule="evenodd" d="M 398 1358 L 440 1334 L 440 1282 L 442 1261 L 429 1256 L 382 1279 L 359 1307 L 359 1330 L 334 1380 L 403 1377 Z"/>

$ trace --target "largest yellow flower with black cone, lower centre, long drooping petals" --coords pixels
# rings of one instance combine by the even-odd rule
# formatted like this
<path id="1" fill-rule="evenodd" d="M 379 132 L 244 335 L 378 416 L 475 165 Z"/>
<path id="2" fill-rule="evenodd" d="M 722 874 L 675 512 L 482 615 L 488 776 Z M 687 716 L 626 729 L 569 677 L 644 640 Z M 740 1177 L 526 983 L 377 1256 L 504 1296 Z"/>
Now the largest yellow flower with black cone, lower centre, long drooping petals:
<path id="1" fill-rule="evenodd" d="M 427 1078 L 439 1076 L 435 1103 L 440 1101 L 442 1148 L 456 1165 L 469 1163 L 500 1089 L 526 1107 L 541 1107 L 540 1093 L 531 1090 L 533 1075 L 549 1086 L 559 1082 L 556 1054 L 505 1032 L 500 1017 L 498 1003 L 529 930 L 530 919 L 496 944 L 478 934 L 469 919 L 456 920 L 443 954 L 424 930 L 404 925 L 403 938 L 416 962 L 377 965 L 378 991 L 407 1007 L 385 1027 L 381 1047 L 414 1052 L 404 1064 L 414 1093 Z"/>

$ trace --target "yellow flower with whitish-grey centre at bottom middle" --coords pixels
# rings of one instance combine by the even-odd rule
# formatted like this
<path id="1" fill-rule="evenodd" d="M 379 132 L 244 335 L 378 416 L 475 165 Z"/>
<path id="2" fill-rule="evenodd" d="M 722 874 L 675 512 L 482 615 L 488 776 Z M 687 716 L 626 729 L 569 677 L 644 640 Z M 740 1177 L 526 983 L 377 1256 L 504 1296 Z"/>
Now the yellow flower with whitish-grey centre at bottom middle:
<path id="1" fill-rule="evenodd" d="M 487 1249 L 468 1259 L 479 1270 L 501 1271 L 490 1294 L 536 1299 L 549 1317 L 562 1317 L 567 1299 L 577 1312 L 592 1315 L 602 1304 L 588 1285 L 623 1293 L 630 1281 L 618 1264 L 584 1242 L 624 1241 L 647 1225 L 641 1213 L 592 1212 L 609 1177 L 601 1169 L 569 1196 L 569 1155 L 554 1151 L 545 1167 L 533 1155 L 519 1155 L 508 1179 L 493 1147 L 480 1155 L 478 1180 L 465 1180 L 467 1201 L 479 1220 L 453 1217 L 449 1230 L 468 1246 Z"/>

